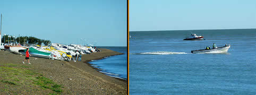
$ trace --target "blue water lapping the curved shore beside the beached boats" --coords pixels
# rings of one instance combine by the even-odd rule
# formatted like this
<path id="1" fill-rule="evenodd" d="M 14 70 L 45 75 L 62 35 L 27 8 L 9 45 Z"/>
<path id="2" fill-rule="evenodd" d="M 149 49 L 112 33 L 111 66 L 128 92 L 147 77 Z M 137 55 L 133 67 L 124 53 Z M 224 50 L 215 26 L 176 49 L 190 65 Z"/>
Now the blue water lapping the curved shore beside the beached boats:
<path id="1" fill-rule="evenodd" d="M 127 80 L 127 47 L 126 46 L 97 46 L 97 48 L 109 49 L 124 53 L 123 55 L 109 56 L 101 60 L 89 62 L 92 67 L 98 68 L 99 72 L 110 77 Z"/>

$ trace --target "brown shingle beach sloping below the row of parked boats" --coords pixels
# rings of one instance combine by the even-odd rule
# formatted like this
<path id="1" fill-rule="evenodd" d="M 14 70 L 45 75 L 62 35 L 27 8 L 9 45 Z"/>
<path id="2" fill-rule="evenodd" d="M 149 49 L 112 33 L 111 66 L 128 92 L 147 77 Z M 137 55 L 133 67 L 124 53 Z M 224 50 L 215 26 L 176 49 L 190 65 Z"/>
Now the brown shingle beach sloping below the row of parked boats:
<path id="1" fill-rule="evenodd" d="M 126 94 L 126 80 L 109 77 L 98 72 L 88 64 L 90 60 L 103 59 L 105 56 L 119 55 L 122 53 L 108 49 L 99 50 L 101 50 L 101 52 L 82 55 L 82 61 L 77 62 L 35 58 L 31 56 L 31 64 L 28 64 L 27 61 L 25 61 L 25 64 L 22 63 L 22 60 L 25 58 L 24 55 L 17 55 L 8 51 L 0 51 L 0 67 L 10 67 L 10 64 L 14 65 L 11 68 L 28 67 L 19 70 L 31 70 L 42 74 L 45 78 L 53 80 L 53 82 L 63 87 L 63 92 L 59 94 Z M 0 75 L 0 78 L 2 77 L 4 76 Z M 18 81 L 16 86 L 3 81 L 6 81 L 6 79 L 0 82 L 0 94 L 54 93 L 49 89 L 41 90 L 37 85 L 24 87 L 24 83 L 21 83 L 21 81 Z M 31 89 L 37 90 L 31 91 Z"/>

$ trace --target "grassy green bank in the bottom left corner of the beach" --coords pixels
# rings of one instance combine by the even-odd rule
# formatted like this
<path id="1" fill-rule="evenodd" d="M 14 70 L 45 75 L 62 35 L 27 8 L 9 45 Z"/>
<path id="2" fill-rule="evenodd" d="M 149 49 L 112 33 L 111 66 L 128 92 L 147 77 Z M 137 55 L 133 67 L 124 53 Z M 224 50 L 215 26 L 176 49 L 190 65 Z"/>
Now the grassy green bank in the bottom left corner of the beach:
<path id="1" fill-rule="evenodd" d="M 0 93 L 59 94 L 63 87 L 25 64 L 0 64 Z"/>

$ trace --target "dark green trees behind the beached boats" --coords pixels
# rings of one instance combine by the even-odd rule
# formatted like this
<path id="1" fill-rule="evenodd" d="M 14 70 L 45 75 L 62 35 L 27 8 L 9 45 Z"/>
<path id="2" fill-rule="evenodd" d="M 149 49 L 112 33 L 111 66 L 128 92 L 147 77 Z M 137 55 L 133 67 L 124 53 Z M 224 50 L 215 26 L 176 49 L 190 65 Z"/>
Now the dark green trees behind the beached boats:
<path id="1" fill-rule="evenodd" d="M 13 36 L 9 37 L 8 40 L 8 36 L 9 35 L 4 35 L 2 37 L 2 42 L 4 43 L 8 43 L 9 42 L 16 42 L 16 43 L 20 43 L 20 44 L 38 44 L 41 45 L 42 43 L 44 43 L 45 45 L 50 45 L 50 40 L 42 40 L 42 39 L 38 39 L 37 37 L 33 37 L 33 36 L 20 36 L 20 37 L 16 37 L 14 38 Z"/>

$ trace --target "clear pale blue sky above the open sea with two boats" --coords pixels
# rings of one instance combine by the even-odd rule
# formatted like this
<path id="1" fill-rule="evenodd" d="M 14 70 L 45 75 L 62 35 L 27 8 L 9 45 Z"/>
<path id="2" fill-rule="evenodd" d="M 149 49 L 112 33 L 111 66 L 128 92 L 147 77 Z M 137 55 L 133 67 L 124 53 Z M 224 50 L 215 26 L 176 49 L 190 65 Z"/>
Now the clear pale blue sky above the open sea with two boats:
<path id="1" fill-rule="evenodd" d="M 256 29 L 255 0 L 130 0 L 129 31 Z"/>

